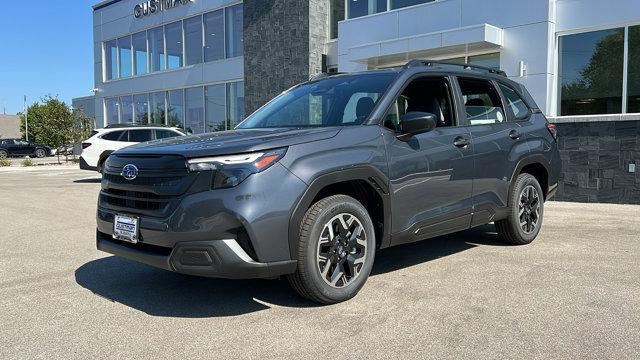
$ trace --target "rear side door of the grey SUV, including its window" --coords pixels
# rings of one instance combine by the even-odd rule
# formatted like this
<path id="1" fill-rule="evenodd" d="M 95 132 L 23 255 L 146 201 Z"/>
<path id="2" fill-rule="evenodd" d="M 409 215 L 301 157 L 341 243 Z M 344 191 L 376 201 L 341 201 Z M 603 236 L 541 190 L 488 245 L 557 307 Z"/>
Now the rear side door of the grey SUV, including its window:
<path id="1" fill-rule="evenodd" d="M 508 206 L 515 163 L 529 148 L 495 81 L 458 77 L 457 83 L 474 146 L 472 226 L 481 225 Z"/>

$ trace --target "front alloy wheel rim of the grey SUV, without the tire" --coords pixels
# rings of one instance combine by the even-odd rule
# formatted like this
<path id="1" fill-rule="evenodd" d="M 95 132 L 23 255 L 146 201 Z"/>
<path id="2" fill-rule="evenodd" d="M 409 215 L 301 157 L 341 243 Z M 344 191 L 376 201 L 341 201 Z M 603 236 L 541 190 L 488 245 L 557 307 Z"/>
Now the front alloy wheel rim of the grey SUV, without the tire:
<path id="1" fill-rule="evenodd" d="M 317 264 L 320 276 L 332 287 L 355 280 L 367 257 L 367 235 L 360 220 L 342 213 L 329 220 L 320 233 Z"/>

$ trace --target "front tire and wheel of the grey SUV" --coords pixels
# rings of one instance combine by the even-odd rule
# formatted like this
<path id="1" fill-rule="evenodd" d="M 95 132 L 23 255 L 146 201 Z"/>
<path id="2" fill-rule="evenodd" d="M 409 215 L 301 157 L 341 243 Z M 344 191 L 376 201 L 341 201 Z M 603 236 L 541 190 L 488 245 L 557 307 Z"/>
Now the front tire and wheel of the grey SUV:
<path id="1" fill-rule="evenodd" d="M 298 266 L 287 280 L 301 296 L 320 304 L 351 299 L 371 273 L 375 246 L 373 222 L 362 204 L 346 195 L 324 198 L 302 219 Z"/>

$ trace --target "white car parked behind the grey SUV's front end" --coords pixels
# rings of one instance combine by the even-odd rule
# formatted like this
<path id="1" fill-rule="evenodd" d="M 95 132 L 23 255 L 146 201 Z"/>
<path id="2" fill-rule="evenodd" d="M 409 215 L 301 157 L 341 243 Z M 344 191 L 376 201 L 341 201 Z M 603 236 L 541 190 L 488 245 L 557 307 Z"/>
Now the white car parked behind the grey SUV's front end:
<path id="1" fill-rule="evenodd" d="M 116 150 L 145 141 L 185 135 L 179 128 L 165 126 L 120 124 L 96 129 L 93 135 L 82 143 L 80 169 L 101 173 L 104 161 Z"/>

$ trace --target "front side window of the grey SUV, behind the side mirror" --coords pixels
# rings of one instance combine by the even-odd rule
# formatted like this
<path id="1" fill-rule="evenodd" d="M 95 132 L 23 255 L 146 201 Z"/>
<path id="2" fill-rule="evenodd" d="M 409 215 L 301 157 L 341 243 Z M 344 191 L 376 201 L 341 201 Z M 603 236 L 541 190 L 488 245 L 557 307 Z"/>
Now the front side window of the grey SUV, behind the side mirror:
<path id="1" fill-rule="evenodd" d="M 400 131 L 402 116 L 408 112 L 426 112 L 436 116 L 436 127 L 455 124 L 449 82 L 444 77 L 423 77 L 405 88 L 384 119 L 384 126 Z"/>

